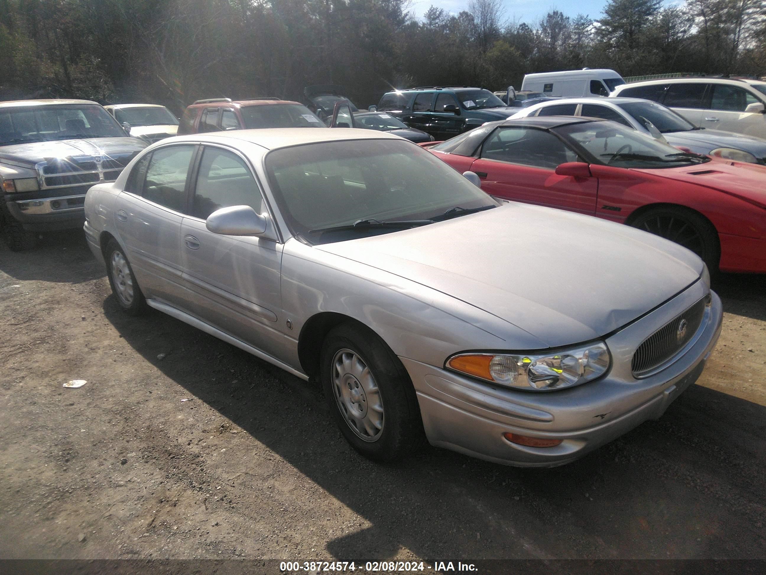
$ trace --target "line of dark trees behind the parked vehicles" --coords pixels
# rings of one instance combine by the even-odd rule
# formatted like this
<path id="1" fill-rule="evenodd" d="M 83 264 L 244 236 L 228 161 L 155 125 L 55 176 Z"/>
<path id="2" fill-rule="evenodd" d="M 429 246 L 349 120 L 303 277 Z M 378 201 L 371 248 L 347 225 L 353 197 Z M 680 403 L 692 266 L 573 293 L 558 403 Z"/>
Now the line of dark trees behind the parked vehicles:
<path id="1" fill-rule="evenodd" d="M 298 99 L 341 84 L 359 106 L 392 88 L 518 89 L 524 74 L 766 74 L 766 0 L 610 0 L 601 15 L 509 18 L 469 0 L 423 18 L 408 0 L 0 0 L 0 100 Z"/>

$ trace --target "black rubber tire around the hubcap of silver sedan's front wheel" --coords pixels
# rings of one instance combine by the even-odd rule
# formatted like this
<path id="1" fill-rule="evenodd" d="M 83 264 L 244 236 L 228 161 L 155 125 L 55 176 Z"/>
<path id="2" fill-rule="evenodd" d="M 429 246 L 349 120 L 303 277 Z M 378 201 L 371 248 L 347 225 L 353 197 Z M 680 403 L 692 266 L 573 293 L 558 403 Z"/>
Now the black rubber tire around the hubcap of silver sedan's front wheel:
<path id="1" fill-rule="evenodd" d="M 377 385 L 377 395 L 370 393 L 369 396 L 365 396 L 362 393 L 363 399 L 370 399 L 369 407 L 365 405 L 365 413 L 367 409 L 371 414 L 373 413 L 372 406 L 375 399 L 379 399 L 382 406 L 382 425 L 381 429 L 373 427 L 373 431 L 378 433 L 374 438 L 368 436 L 365 440 L 360 437 L 360 432 L 367 432 L 363 426 L 361 430 L 355 431 L 358 426 L 352 425 L 350 421 L 353 418 L 347 415 L 348 412 L 345 410 L 347 409 L 345 406 L 349 406 L 349 403 L 344 402 L 343 399 L 340 401 L 336 399 L 334 360 L 339 353 L 342 354 L 339 357 L 345 357 L 343 350 L 356 354 L 356 357 L 368 367 Z M 394 352 L 372 331 L 356 324 L 342 324 L 333 328 L 322 343 L 320 370 L 322 388 L 332 412 L 332 418 L 356 451 L 374 461 L 392 462 L 424 444 L 421 412 L 417 406 L 417 397 L 410 376 Z M 345 373 L 345 376 L 355 380 L 350 372 Z M 349 389 L 351 389 L 350 385 Z M 362 389 L 365 388 L 362 386 Z M 362 403 L 362 400 L 358 401 L 359 405 Z"/>

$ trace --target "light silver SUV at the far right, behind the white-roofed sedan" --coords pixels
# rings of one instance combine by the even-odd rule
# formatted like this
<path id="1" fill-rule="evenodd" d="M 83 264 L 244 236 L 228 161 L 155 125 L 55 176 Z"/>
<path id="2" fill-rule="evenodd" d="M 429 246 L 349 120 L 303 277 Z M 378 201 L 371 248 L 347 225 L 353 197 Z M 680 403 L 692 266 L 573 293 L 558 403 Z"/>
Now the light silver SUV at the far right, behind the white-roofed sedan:
<path id="1" fill-rule="evenodd" d="M 702 128 L 766 138 L 766 82 L 670 78 L 623 84 L 611 96 L 654 100 Z"/>

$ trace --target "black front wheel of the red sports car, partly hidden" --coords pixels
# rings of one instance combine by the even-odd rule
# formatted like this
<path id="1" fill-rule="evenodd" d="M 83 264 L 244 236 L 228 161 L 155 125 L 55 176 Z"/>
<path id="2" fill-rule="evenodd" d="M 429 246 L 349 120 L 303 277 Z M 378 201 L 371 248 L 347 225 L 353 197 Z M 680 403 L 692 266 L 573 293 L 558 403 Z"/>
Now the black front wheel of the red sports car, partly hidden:
<path id="1" fill-rule="evenodd" d="M 702 258 L 711 274 L 718 271 L 721 259 L 718 232 L 699 212 L 666 205 L 643 212 L 630 225 L 683 245 Z"/>

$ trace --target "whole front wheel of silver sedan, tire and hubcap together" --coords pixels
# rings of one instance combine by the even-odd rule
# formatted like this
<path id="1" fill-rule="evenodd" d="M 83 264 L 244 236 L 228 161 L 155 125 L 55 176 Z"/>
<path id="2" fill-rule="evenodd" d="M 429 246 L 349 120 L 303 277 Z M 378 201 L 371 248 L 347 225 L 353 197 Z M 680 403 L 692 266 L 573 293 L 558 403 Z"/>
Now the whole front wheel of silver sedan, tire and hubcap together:
<path id="1" fill-rule="evenodd" d="M 356 451 L 390 462 L 420 445 L 423 424 L 412 382 L 391 349 L 352 324 L 322 345 L 322 387 L 333 419 Z"/>

